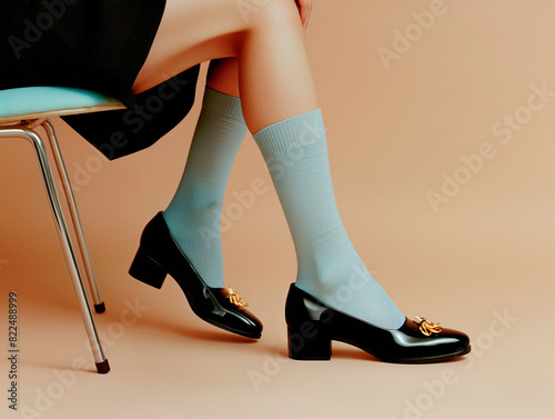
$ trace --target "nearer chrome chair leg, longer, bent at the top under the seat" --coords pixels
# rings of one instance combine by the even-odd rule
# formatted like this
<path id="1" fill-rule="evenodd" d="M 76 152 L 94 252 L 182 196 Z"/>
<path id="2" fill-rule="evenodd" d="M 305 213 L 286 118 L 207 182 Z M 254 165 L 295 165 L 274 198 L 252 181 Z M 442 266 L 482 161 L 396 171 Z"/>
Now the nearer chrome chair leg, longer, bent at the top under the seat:
<path id="1" fill-rule="evenodd" d="M 63 255 L 65 256 L 68 269 L 73 283 L 73 289 L 81 309 L 81 315 L 84 322 L 84 328 L 87 330 L 87 336 L 91 345 L 92 355 L 94 357 L 94 362 L 97 365 L 97 371 L 99 373 L 107 373 L 110 371 L 110 365 L 108 359 L 104 357 L 102 351 L 102 346 L 100 343 L 97 328 L 94 327 L 94 320 L 92 318 L 91 310 L 87 300 L 87 293 L 83 288 L 83 282 L 79 271 L 78 261 L 75 258 L 75 252 L 71 243 L 71 237 L 68 231 L 68 225 L 65 218 L 63 217 L 62 207 L 58 197 L 54 179 L 52 176 L 52 170 L 48 161 L 48 156 L 44 149 L 44 143 L 37 132 L 27 129 L 24 127 L 12 127 L 9 129 L 0 130 L 0 138 L 24 138 L 29 140 L 37 152 L 37 158 L 39 160 L 42 180 L 47 189 L 48 198 L 50 201 L 50 207 L 54 216 L 58 236 L 60 237 L 60 242 L 62 245 Z"/>

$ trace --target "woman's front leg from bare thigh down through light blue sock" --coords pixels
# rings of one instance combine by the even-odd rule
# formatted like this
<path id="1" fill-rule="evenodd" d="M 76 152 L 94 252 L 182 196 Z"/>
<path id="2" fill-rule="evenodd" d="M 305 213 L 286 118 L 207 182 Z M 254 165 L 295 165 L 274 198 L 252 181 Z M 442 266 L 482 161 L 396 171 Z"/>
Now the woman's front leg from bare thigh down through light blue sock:
<path id="1" fill-rule="evenodd" d="M 235 0 L 170 0 L 137 90 L 157 84 L 168 71 L 236 57 L 243 113 L 287 218 L 299 287 L 349 315 L 398 328 L 404 317 L 365 270 L 339 217 L 294 1 L 270 0 L 249 19 L 236 4 Z M 340 292 L 345 287 L 349 298 Z"/>

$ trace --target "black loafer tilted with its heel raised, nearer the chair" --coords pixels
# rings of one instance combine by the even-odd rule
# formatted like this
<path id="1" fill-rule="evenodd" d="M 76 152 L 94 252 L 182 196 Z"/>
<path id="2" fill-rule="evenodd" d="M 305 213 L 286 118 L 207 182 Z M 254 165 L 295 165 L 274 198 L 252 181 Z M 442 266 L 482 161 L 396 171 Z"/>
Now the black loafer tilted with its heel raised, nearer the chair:
<path id="1" fill-rule="evenodd" d="M 248 338 L 259 339 L 261 321 L 245 309 L 231 288 L 206 286 L 173 239 L 159 212 L 144 228 L 129 273 L 154 288 L 162 288 L 169 273 L 183 290 L 193 312 L 202 320 Z"/>

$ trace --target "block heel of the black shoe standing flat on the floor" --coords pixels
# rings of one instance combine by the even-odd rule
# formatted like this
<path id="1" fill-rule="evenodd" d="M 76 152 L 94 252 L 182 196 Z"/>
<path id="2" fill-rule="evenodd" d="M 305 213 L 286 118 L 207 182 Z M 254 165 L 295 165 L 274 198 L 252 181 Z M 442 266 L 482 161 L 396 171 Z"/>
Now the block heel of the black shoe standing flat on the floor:
<path id="1" fill-rule="evenodd" d="M 332 357 L 330 336 L 315 322 L 305 322 L 295 329 L 287 327 L 287 345 L 291 359 L 329 361 Z"/>

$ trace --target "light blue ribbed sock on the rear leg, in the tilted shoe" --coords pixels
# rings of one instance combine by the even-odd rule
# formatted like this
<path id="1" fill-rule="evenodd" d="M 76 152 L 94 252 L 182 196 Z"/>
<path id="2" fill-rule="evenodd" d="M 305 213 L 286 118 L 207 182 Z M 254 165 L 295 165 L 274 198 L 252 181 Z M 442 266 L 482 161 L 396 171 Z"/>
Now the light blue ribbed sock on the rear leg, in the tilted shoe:
<path id="1" fill-rule="evenodd" d="M 183 177 L 163 213 L 179 247 L 210 287 L 224 283 L 220 218 L 245 133 L 241 100 L 206 87 Z"/>

